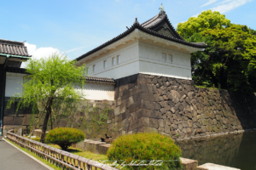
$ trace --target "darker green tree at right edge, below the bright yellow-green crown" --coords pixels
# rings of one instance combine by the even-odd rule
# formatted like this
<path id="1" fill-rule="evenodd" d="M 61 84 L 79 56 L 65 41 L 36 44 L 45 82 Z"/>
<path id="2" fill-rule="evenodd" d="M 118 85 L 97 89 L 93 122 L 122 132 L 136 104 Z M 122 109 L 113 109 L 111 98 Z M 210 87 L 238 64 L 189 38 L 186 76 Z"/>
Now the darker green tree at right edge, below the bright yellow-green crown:
<path id="1" fill-rule="evenodd" d="M 218 82 L 218 88 L 255 90 L 256 38 L 247 26 L 232 25 L 224 29 L 202 31 L 212 37 L 212 58 L 208 70 Z"/>

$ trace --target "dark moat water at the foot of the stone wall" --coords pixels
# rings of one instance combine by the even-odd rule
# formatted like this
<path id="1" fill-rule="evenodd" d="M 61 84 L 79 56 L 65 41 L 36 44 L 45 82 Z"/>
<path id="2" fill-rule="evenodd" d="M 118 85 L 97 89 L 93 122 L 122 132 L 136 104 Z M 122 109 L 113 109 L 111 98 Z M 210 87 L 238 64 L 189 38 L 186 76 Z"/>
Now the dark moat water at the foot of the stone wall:
<path id="1" fill-rule="evenodd" d="M 230 134 L 204 140 L 177 142 L 182 156 L 198 161 L 256 170 L 256 132 Z"/>

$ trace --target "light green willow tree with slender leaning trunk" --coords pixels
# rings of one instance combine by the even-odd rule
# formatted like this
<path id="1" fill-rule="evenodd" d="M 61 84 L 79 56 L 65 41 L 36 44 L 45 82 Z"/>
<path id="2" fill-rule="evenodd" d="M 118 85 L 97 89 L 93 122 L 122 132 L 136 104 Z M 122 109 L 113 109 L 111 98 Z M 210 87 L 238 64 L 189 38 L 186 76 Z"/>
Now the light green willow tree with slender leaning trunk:
<path id="1" fill-rule="evenodd" d="M 7 108 L 18 101 L 16 111 L 30 108 L 32 117 L 37 115 L 38 121 L 44 121 L 40 140 L 42 143 L 49 119 L 52 128 L 53 117 L 72 114 L 79 101 L 84 99 L 82 89 L 87 71 L 85 65 L 76 67 L 75 62 L 61 54 L 29 59 L 26 65 L 28 76 L 22 83 L 22 94 L 15 94 L 9 99 Z"/>

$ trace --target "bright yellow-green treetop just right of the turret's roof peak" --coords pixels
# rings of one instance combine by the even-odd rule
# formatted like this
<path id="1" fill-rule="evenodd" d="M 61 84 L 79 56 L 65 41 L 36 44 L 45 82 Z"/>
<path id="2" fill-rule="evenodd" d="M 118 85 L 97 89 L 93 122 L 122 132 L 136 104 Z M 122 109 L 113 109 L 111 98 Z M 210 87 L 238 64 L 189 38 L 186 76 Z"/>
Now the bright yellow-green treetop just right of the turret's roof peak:
<path id="1" fill-rule="evenodd" d="M 224 14 L 217 11 L 207 10 L 198 15 L 198 17 L 190 17 L 188 21 L 177 25 L 177 32 L 186 40 L 194 33 L 199 33 L 206 29 L 222 29 L 230 26 L 230 20 L 225 18 Z"/>

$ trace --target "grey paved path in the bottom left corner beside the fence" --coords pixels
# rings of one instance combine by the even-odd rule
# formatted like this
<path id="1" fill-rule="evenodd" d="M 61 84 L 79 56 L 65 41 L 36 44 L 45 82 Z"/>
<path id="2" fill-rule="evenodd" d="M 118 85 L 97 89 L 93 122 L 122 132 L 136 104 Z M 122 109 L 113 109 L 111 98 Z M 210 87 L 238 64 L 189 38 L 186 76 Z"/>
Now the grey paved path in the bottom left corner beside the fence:
<path id="1" fill-rule="evenodd" d="M 0 136 L 0 169 L 47 170 L 48 168 L 26 156 L 20 150 L 5 142 Z"/>

